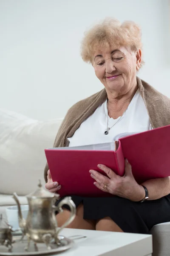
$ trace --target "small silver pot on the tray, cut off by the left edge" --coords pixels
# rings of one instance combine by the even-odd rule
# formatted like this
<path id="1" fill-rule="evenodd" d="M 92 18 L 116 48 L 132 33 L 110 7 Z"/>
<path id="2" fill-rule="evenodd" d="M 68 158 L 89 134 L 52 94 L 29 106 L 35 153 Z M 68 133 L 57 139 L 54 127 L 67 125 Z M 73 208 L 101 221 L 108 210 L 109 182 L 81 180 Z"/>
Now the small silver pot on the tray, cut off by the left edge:
<path id="1" fill-rule="evenodd" d="M 3 215 L 0 215 L 0 245 L 8 247 L 8 252 L 12 251 L 12 227 L 3 220 Z"/>

